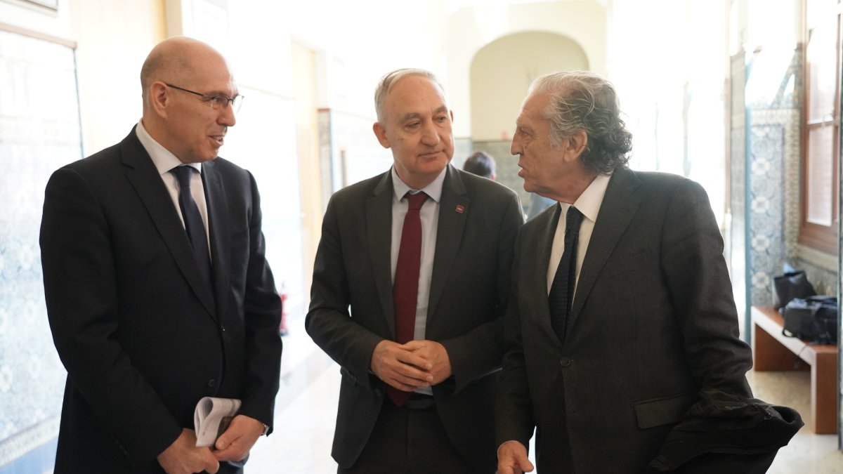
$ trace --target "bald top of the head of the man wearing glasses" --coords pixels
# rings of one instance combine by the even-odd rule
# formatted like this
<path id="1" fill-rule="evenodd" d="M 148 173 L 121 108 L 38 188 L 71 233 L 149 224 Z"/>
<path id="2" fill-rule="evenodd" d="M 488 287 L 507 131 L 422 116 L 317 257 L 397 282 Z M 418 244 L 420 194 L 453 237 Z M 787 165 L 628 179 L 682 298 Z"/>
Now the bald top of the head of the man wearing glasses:
<path id="1" fill-rule="evenodd" d="M 219 51 L 200 40 L 186 36 L 173 36 L 161 41 L 149 51 L 141 67 L 141 88 L 143 106 L 148 105 L 149 86 L 155 81 L 166 83 L 187 83 L 196 76 L 201 65 L 208 62 L 223 62 Z"/>

